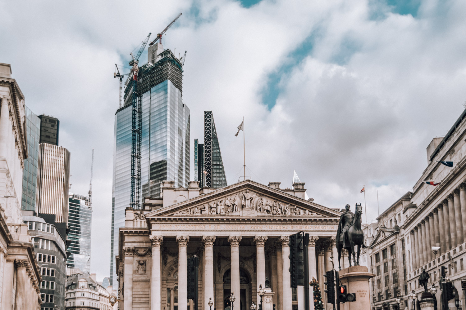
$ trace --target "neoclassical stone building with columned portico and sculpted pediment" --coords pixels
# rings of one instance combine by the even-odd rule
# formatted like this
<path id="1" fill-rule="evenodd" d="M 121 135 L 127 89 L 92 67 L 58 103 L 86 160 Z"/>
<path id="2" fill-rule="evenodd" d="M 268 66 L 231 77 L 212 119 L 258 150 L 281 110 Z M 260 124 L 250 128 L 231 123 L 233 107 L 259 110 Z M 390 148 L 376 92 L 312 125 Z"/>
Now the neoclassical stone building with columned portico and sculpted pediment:
<path id="1" fill-rule="evenodd" d="M 199 257 L 199 310 L 258 304 L 266 277 L 277 310 L 297 309 L 290 288 L 289 235 L 310 234 L 309 277 L 323 287 L 336 257 L 340 211 L 304 199 L 304 183 L 280 189 L 245 180 L 220 189 L 175 188 L 164 181 L 162 197 L 145 198 L 143 210 L 126 209 L 119 229 L 117 271 L 120 309 L 187 310 L 187 258 Z M 332 255 L 333 254 L 333 255 Z M 335 263 L 336 258 L 335 258 Z M 326 300 L 326 298 L 324 299 Z"/>

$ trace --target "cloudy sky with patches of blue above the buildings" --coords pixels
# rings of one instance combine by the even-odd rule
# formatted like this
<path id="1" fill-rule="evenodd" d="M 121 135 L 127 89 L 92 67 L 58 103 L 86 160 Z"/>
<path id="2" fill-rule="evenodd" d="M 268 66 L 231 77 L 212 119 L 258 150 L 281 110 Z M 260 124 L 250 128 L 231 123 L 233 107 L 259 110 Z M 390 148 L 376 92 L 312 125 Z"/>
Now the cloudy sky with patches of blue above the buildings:
<path id="1" fill-rule="evenodd" d="M 463 0 L 3 0 L 0 62 L 12 65 L 27 106 L 60 119 L 71 191 L 89 190 L 95 149 L 91 268 L 102 280 L 113 72 L 129 70 L 129 53 L 149 32 L 183 13 L 164 46 L 188 51 L 191 138 L 202 139 L 203 111 L 212 110 L 228 184 L 242 171 L 234 133 L 244 116 L 248 176 L 285 188 L 296 170 L 309 197 L 332 208 L 363 202 L 365 185 L 370 221 L 377 191 L 380 211 L 410 191 L 427 145 L 464 109 L 465 11 Z"/>

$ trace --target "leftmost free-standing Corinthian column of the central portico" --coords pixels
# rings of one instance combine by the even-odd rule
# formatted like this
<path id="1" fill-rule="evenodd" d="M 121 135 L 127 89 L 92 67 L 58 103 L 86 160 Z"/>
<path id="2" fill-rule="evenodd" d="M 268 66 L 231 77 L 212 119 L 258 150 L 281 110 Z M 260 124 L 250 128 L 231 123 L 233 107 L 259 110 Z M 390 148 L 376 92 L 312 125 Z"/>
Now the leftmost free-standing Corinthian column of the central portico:
<path id="1" fill-rule="evenodd" d="M 151 271 L 151 310 L 160 310 L 162 306 L 161 299 L 161 261 L 160 261 L 160 244 L 164 240 L 162 236 L 149 236 L 152 244 L 152 271 Z"/>

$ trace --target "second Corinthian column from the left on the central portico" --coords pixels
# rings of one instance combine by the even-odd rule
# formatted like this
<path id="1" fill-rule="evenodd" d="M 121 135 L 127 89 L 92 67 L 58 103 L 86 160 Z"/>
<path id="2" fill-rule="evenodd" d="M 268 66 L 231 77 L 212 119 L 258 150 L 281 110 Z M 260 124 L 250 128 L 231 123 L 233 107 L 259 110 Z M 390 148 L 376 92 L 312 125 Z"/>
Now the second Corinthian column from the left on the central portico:
<path id="1" fill-rule="evenodd" d="M 189 236 L 176 236 L 176 242 L 178 242 L 178 310 L 188 309 L 188 241 Z"/>

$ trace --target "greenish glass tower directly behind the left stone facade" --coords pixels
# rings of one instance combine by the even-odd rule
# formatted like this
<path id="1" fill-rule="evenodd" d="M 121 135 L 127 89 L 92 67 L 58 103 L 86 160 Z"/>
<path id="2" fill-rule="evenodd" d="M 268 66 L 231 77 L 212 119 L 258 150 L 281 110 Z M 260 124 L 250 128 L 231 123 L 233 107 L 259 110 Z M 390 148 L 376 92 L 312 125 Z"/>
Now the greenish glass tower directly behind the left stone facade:
<path id="1" fill-rule="evenodd" d="M 26 106 L 27 158 L 24 160 L 21 210 L 35 211 L 41 119 Z"/>

